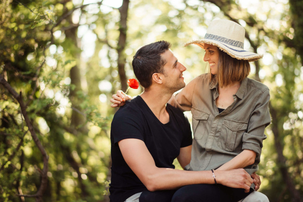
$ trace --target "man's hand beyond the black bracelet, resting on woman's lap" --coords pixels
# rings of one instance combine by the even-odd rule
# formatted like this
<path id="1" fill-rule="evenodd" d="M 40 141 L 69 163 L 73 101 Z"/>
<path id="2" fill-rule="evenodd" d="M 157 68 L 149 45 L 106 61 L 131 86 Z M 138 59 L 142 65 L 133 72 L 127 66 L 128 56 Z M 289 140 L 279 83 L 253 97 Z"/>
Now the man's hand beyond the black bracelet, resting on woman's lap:
<path id="1" fill-rule="evenodd" d="M 229 171 L 215 170 L 217 183 L 233 188 L 243 188 L 249 192 L 250 185 L 254 182 L 251 176 L 243 169 L 234 169 Z"/>

